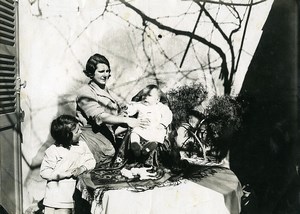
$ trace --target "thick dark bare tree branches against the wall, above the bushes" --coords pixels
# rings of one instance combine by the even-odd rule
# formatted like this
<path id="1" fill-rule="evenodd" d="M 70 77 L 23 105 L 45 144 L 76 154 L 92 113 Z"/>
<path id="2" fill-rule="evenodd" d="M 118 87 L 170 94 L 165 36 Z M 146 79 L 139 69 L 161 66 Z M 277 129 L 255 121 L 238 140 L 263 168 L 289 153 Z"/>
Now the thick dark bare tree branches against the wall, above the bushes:
<path id="1" fill-rule="evenodd" d="M 130 1 L 128 1 L 128 0 L 119 0 L 119 1 L 122 4 L 124 4 L 126 7 L 128 7 L 135 13 L 137 13 L 141 17 L 143 26 L 147 26 L 149 28 L 149 23 L 150 23 L 161 30 L 165 30 L 167 32 L 173 33 L 176 36 L 179 35 L 179 36 L 189 37 L 189 43 L 187 44 L 187 48 L 185 49 L 185 53 L 184 53 L 184 56 L 182 58 L 179 68 L 181 68 L 182 63 L 184 62 L 186 53 L 189 49 L 189 46 L 190 46 L 192 40 L 198 41 L 198 42 L 202 43 L 203 45 L 206 45 L 208 47 L 209 51 L 214 50 L 220 56 L 220 58 L 218 60 L 221 60 L 221 65 L 220 65 L 220 70 L 219 70 L 220 71 L 219 79 L 223 81 L 224 93 L 230 94 L 232 84 L 233 84 L 233 77 L 237 71 L 238 63 L 239 63 L 240 57 L 241 57 L 243 40 L 245 39 L 245 33 L 246 33 L 247 23 L 249 21 L 249 16 L 251 13 L 251 7 L 253 5 L 257 5 L 259 3 L 265 2 L 266 0 L 247 0 L 248 3 L 234 3 L 232 1 L 225 2 L 224 0 L 219 0 L 219 1 L 217 1 L 217 0 L 207 0 L 207 1 L 206 0 L 192 0 L 192 2 L 196 3 L 200 8 L 198 19 L 195 23 L 193 31 L 180 30 L 180 29 L 177 29 L 176 27 L 173 27 L 173 26 L 171 27 L 171 26 L 165 25 L 162 22 L 158 21 L 159 18 L 157 18 L 157 17 L 153 18 L 153 17 L 148 16 L 143 11 L 141 11 L 139 8 L 137 8 L 133 4 L 131 4 Z M 229 12 L 231 13 L 231 15 L 236 20 L 235 22 L 232 22 L 231 24 L 236 25 L 236 26 L 233 29 L 231 29 L 230 32 L 225 32 L 224 28 L 222 28 L 222 26 L 221 26 L 222 23 L 217 21 L 217 17 L 214 18 L 210 14 L 210 11 L 205 7 L 205 3 L 215 3 L 215 4 L 220 5 L 220 7 L 221 6 L 227 7 Z M 234 51 L 234 45 L 233 45 L 233 35 L 241 30 L 243 20 L 247 14 L 247 9 L 244 10 L 243 15 L 242 15 L 240 13 L 240 10 L 237 9 L 237 6 L 244 6 L 244 7 L 247 6 L 247 7 L 250 7 L 250 9 L 248 10 L 247 23 L 245 25 L 245 29 L 243 32 L 243 38 L 242 38 L 241 46 L 240 46 L 238 56 L 237 56 L 238 58 L 236 59 L 236 53 Z M 216 32 L 220 33 L 220 35 L 226 41 L 226 43 L 229 47 L 228 50 L 230 52 L 229 53 L 230 61 L 227 62 L 227 57 L 229 57 L 229 56 L 227 56 L 225 54 L 226 51 L 224 49 L 222 49 L 221 47 L 219 47 L 217 44 L 213 43 L 212 41 L 208 40 L 207 38 L 195 34 L 195 29 L 199 23 L 200 16 L 203 12 L 204 12 L 205 16 L 208 17 L 210 23 L 213 25 L 214 30 L 216 30 Z M 212 33 L 213 33 L 213 31 L 212 31 Z M 143 41 L 144 41 L 144 38 L 143 38 Z M 144 47 L 144 51 L 145 51 L 145 47 Z M 208 55 L 207 57 L 210 62 L 210 56 Z M 149 60 L 149 55 L 147 56 L 147 58 Z M 208 63 L 208 64 L 210 64 L 210 63 Z M 209 69 L 212 69 L 211 65 L 208 65 L 208 66 L 209 66 Z"/>

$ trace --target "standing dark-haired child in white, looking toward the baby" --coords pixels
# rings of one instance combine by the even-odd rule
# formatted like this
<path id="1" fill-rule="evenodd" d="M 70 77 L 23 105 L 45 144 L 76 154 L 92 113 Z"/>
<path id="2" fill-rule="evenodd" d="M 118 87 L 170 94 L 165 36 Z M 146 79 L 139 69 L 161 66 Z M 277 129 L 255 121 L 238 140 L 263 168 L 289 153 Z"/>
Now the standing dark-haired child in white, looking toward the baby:
<path id="1" fill-rule="evenodd" d="M 75 117 L 61 115 L 51 123 L 55 144 L 45 151 L 40 175 L 47 180 L 45 214 L 72 213 L 76 177 L 92 170 L 96 161 L 85 142 Z"/>

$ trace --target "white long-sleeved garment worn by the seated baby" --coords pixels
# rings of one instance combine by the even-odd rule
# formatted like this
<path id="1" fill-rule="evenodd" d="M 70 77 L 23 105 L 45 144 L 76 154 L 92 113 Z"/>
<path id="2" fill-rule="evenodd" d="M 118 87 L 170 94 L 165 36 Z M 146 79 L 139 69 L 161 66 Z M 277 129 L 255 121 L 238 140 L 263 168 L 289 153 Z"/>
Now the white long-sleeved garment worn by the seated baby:
<path id="1" fill-rule="evenodd" d="M 149 121 L 147 127 L 135 127 L 132 132 L 137 133 L 147 141 L 163 143 L 166 136 L 166 127 L 172 122 L 173 116 L 167 105 L 161 102 L 154 105 L 146 105 L 144 102 L 131 102 L 128 105 L 127 113 L 129 116 L 138 113 L 138 119 Z"/>

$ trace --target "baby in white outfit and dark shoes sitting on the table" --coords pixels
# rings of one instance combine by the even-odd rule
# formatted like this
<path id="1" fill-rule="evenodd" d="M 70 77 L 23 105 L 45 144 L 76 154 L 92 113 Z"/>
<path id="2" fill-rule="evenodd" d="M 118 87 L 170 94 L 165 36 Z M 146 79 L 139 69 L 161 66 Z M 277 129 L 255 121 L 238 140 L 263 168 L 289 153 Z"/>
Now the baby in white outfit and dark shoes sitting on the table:
<path id="1" fill-rule="evenodd" d="M 131 150 L 135 158 L 150 156 L 148 165 L 153 165 L 151 153 L 157 143 L 163 143 L 167 134 L 167 126 L 172 122 L 169 107 L 160 102 L 162 92 L 156 85 L 148 85 L 142 90 L 141 100 L 128 105 L 128 116 L 137 114 L 138 119 L 147 120 L 145 127 L 135 127 L 130 136 Z M 141 157 L 142 156 L 142 157 Z"/>

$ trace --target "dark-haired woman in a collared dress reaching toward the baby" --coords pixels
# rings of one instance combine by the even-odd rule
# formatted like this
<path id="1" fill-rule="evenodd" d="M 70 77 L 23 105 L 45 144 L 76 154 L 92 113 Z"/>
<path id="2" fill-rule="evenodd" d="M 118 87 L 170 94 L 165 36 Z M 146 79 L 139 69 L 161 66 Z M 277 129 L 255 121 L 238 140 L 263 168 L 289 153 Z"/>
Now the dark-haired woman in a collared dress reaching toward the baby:
<path id="1" fill-rule="evenodd" d="M 147 124 L 147 121 L 120 115 L 119 105 L 106 87 L 110 72 L 105 56 L 91 56 L 84 70 L 91 80 L 78 91 L 76 98 L 76 117 L 83 126 L 82 138 L 96 159 L 96 167 L 110 163 L 114 157 L 114 132 L 118 125 L 143 127 Z"/>

